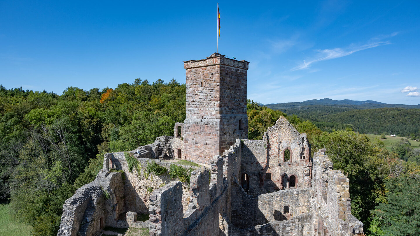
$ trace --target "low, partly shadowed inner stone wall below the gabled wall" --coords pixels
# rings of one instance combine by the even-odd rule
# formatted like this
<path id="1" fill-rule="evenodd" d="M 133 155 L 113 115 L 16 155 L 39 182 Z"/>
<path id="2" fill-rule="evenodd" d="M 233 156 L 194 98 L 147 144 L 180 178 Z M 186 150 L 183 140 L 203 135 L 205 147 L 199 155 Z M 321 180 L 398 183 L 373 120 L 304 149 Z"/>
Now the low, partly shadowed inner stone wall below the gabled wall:
<path id="1" fill-rule="evenodd" d="M 289 213 L 284 207 L 288 207 Z M 239 236 L 244 232 L 249 232 L 244 235 L 260 235 L 262 229 L 267 235 L 312 235 L 311 219 L 309 188 L 288 189 L 255 197 L 248 195 L 239 184 L 232 188 L 232 232 L 229 235 Z M 277 223 L 280 221 L 282 223 Z M 297 223 L 299 227 L 296 227 Z M 281 227 L 272 227 L 277 225 Z"/>

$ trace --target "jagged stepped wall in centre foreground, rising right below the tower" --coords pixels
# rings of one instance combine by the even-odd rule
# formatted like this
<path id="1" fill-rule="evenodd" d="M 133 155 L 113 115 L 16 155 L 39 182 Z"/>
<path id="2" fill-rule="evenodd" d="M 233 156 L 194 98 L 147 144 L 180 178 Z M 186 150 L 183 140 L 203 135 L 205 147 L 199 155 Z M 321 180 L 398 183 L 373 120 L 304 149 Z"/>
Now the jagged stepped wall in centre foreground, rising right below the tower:
<path id="1" fill-rule="evenodd" d="M 150 235 L 227 235 L 231 221 L 231 183 L 237 180 L 240 157 L 241 142 L 237 139 L 223 155 L 213 158 L 210 173 L 206 168 L 192 172 L 190 204 L 184 214 L 179 210 L 182 191 L 178 182 L 153 191 L 149 207 Z"/>

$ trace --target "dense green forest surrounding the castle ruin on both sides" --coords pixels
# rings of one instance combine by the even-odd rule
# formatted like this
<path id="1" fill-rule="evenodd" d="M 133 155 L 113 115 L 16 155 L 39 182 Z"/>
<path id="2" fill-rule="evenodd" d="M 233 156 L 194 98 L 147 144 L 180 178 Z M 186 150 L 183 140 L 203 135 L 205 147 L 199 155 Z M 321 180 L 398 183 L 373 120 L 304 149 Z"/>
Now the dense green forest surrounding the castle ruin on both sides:
<path id="1" fill-rule="evenodd" d="M 390 124 L 400 122 L 398 112 Z M 352 214 L 362 220 L 366 235 L 420 234 L 420 154 L 409 142 L 388 151 L 381 140 L 370 142 L 354 126 L 323 130 L 304 115 L 250 100 L 247 114 L 249 139 L 262 139 L 284 115 L 307 133 L 312 152 L 327 149 L 333 168 L 350 179 Z M 69 87 L 60 95 L 0 86 L 1 197 L 15 220 L 32 226 L 32 235 L 54 236 L 63 202 L 95 178 L 104 153 L 171 135 L 184 119 L 185 84 L 174 79 L 150 83 L 137 78 L 102 90 Z M 418 122 L 414 113 L 404 121 Z"/>

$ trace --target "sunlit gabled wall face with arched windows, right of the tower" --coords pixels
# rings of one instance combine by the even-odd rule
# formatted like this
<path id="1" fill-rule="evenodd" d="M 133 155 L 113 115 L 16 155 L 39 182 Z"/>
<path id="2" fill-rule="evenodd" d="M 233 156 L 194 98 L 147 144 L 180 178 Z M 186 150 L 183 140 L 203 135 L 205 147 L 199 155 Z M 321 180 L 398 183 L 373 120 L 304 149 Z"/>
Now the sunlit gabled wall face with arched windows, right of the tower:
<path id="1" fill-rule="evenodd" d="M 291 176 L 296 177 L 296 188 L 311 186 L 312 162 L 306 134 L 299 134 L 289 121 L 281 116 L 274 126 L 268 128 L 263 140 L 267 142 L 271 179 L 279 189 L 290 186 Z M 289 161 L 284 161 L 286 149 L 291 153 Z"/>

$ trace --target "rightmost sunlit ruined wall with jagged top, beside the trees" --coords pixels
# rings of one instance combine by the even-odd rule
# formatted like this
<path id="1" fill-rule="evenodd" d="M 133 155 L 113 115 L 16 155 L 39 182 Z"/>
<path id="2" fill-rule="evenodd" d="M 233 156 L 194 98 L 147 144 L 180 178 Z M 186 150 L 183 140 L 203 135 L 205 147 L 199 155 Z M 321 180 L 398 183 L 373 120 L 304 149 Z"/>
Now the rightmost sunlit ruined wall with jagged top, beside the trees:
<path id="1" fill-rule="evenodd" d="M 319 235 L 348 236 L 363 233 L 363 224 L 351 213 L 349 179 L 333 170 L 325 149 L 314 154 L 311 208 L 314 231 Z"/>

